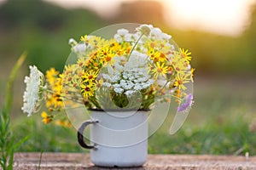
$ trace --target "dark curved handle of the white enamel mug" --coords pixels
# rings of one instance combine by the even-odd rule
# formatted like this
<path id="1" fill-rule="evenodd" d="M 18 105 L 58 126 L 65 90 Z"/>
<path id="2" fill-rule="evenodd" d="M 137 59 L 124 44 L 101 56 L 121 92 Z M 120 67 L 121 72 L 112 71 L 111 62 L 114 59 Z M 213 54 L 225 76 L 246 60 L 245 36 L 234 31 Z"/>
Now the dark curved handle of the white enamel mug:
<path id="1" fill-rule="evenodd" d="M 85 149 L 89 149 L 89 150 L 96 149 L 95 145 L 89 145 L 84 142 L 84 135 L 83 135 L 85 127 L 87 127 L 90 124 L 95 124 L 96 122 L 99 122 L 99 121 L 88 120 L 88 121 L 83 122 L 82 125 L 79 127 L 79 131 L 78 131 L 79 144 L 80 144 L 80 146 L 82 146 Z"/>

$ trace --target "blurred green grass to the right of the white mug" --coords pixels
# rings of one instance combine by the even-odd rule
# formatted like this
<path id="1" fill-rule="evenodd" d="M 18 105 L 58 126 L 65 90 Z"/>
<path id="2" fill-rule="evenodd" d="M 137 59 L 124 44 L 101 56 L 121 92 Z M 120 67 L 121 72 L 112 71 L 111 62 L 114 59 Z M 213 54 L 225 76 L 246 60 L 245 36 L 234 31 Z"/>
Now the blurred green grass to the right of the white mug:
<path id="1" fill-rule="evenodd" d="M 164 131 L 155 133 L 149 139 L 149 153 L 243 155 L 249 151 L 255 155 L 255 139 L 256 135 L 249 131 L 248 123 L 241 116 L 201 126 L 189 122 L 172 136 Z"/>

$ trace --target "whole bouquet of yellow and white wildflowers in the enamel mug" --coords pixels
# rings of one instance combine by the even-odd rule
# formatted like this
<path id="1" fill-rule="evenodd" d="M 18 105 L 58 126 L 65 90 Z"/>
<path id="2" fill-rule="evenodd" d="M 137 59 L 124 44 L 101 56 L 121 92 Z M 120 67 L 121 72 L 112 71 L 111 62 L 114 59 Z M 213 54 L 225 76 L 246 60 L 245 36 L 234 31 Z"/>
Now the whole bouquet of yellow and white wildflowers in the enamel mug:
<path id="1" fill-rule="evenodd" d="M 69 44 L 75 59 L 62 73 L 51 68 L 44 77 L 30 66 L 22 107 L 28 116 L 38 111 L 41 100 L 48 109 L 42 113 L 45 123 L 64 105 L 76 103 L 97 110 L 149 110 L 156 99 L 171 102 L 166 94 L 177 102 L 177 111 L 193 103 L 192 94 L 186 94 L 186 85 L 193 82 L 191 53 L 177 48 L 159 28 L 141 25 L 133 33 L 119 29 L 111 39 L 85 35 Z"/>

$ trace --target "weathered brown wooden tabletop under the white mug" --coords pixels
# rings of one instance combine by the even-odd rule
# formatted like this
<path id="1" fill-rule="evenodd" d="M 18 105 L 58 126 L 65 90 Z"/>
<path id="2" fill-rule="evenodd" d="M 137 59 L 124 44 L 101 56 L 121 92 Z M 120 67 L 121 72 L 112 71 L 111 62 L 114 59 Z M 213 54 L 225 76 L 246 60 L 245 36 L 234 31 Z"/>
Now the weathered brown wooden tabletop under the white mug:
<path id="1" fill-rule="evenodd" d="M 39 160 L 40 153 L 15 153 L 14 169 L 38 169 Z M 40 169 L 110 168 L 95 167 L 89 154 L 43 153 Z M 256 169 L 256 156 L 149 155 L 143 167 L 125 169 Z"/>

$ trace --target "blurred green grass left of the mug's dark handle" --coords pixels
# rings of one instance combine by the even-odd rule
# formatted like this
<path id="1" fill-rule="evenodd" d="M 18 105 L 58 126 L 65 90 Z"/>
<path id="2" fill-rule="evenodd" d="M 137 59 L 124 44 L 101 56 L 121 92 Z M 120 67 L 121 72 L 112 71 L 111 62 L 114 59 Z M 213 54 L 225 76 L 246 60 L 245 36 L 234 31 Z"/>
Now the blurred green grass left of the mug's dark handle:
<path id="1" fill-rule="evenodd" d="M 25 117 L 14 126 L 15 139 L 27 137 L 18 151 L 52 151 L 52 152 L 81 152 L 82 148 L 76 142 L 75 129 L 59 127 L 54 124 L 44 125 L 38 117 Z"/>

